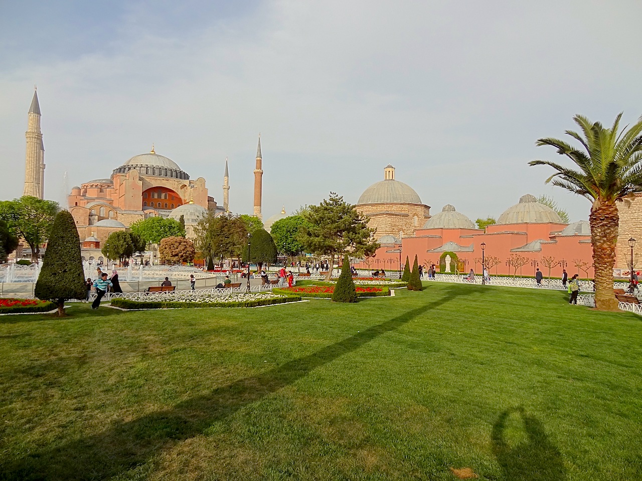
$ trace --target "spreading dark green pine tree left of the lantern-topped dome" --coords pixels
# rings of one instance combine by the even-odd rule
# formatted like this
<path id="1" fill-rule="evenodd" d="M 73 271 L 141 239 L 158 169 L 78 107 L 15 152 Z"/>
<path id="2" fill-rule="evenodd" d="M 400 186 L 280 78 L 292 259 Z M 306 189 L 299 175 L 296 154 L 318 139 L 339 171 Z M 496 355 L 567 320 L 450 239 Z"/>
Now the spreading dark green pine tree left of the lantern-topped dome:
<path id="1" fill-rule="evenodd" d="M 303 217 L 309 225 L 300 227 L 299 241 L 307 252 L 330 258 L 327 279 L 332 275 L 337 255 L 368 257 L 379 248 L 373 237 L 375 230 L 367 225 L 368 217 L 334 192 L 320 205 L 309 206 Z"/>

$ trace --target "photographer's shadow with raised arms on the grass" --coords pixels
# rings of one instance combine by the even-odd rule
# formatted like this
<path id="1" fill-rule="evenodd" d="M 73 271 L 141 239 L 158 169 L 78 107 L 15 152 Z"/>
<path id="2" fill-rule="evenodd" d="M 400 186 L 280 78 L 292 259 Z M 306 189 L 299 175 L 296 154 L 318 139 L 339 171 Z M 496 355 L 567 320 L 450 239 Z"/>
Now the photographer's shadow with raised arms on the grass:
<path id="1" fill-rule="evenodd" d="M 519 414 L 526 441 L 510 446 L 507 423 L 511 414 Z M 510 481 L 563 481 L 566 469 L 562 455 L 544 432 L 542 423 L 525 414 L 523 407 L 508 409 L 499 415 L 492 426 L 492 449 L 504 477 Z"/>

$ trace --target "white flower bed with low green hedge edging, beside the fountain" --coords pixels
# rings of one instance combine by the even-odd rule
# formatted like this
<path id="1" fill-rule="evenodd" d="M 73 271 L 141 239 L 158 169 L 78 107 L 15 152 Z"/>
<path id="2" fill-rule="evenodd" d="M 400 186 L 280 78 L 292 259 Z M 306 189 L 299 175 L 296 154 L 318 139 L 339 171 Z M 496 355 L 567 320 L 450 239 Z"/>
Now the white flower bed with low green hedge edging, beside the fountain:
<path id="1" fill-rule="evenodd" d="M 174 296 L 168 300 L 141 300 L 117 298 L 111 302 L 112 306 L 123 309 L 167 309 L 182 307 L 259 307 L 272 304 L 300 301 L 300 296 L 292 294 L 279 295 L 272 292 L 259 292 L 253 294 L 231 293 L 225 296 L 189 295 L 186 291 L 184 296 Z M 198 292 L 198 291 L 196 291 Z"/>

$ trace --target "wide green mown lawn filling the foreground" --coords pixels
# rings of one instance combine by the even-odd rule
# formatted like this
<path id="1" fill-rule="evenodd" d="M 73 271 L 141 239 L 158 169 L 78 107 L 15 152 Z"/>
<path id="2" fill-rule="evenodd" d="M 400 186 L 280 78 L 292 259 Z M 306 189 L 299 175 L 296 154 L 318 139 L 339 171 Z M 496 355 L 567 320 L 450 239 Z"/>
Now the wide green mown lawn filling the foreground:
<path id="1" fill-rule="evenodd" d="M 0 479 L 642 478 L 642 317 L 396 294 L 0 317 Z"/>

